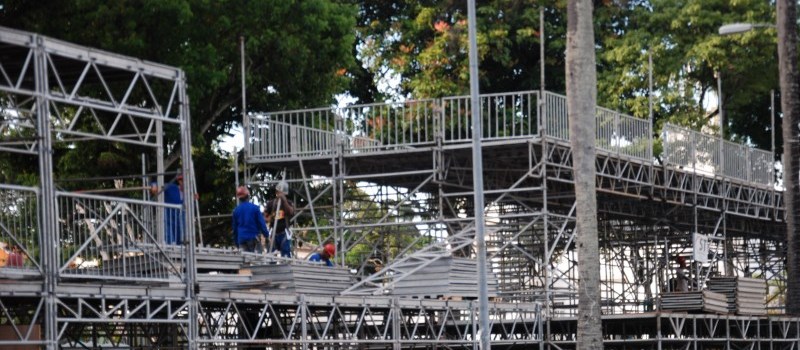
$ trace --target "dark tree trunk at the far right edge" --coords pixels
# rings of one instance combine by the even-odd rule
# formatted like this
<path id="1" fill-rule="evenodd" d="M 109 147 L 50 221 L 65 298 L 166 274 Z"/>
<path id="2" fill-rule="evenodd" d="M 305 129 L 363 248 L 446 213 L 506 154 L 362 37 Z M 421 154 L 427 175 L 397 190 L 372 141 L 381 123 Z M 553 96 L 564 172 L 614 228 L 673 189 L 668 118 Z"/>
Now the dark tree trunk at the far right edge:
<path id="1" fill-rule="evenodd" d="M 778 0 L 778 69 L 781 82 L 781 109 L 783 110 L 783 200 L 786 210 L 786 313 L 800 315 L 800 266 L 798 266 L 797 222 L 800 216 L 800 161 L 798 152 L 798 122 L 800 122 L 800 89 L 797 74 L 797 2 Z"/>

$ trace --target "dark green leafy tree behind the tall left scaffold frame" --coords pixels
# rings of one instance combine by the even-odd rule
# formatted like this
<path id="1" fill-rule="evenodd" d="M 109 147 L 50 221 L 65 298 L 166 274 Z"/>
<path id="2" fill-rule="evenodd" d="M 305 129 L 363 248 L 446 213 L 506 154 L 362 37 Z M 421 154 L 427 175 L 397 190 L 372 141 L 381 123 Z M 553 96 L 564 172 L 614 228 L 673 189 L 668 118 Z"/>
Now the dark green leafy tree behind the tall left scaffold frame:
<path id="1" fill-rule="evenodd" d="M 248 111 L 317 107 L 332 103 L 351 80 L 355 17 L 355 6 L 336 0 L 8 0 L 0 25 L 182 68 L 195 166 L 209 169 L 197 172 L 202 214 L 227 214 L 233 207 L 233 173 L 227 167 L 230 154 L 216 144 L 242 121 L 239 37 L 247 48 Z M 168 168 L 176 168 L 177 134 L 166 137 Z M 100 172 L 94 176 L 140 172 L 141 149 L 86 147 L 93 146 L 65 147 L 56 155 L 57 162 L 77 171 L 60 169 L 59 175 L 85 176 L 86 169 Z M 97 152 L 104 155 L 82 156 Z M 24 177 L 15 171 L 0 165 L 3 178 Z M 229 225 L 220 224 L 216 234 L 229 236 Z"/>

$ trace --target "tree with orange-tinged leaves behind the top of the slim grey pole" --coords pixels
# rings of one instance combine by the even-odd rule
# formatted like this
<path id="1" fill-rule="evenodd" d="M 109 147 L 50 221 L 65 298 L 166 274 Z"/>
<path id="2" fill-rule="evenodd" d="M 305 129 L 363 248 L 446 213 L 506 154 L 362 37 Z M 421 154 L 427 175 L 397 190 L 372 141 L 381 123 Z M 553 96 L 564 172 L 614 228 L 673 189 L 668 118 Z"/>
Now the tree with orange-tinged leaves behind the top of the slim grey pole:
<path id="1" fill-rule="evenodd" d="M 360 60 L 376 81 L 394 76 L 414 98 L 467 94 L 464 1 L 358 1 Z M 564 88 L 563 5 L 541 0 L 481 1 L 477 41 L 482 93 L 539 87 L 539 8 L 547 18 L 547 86 Z"/>

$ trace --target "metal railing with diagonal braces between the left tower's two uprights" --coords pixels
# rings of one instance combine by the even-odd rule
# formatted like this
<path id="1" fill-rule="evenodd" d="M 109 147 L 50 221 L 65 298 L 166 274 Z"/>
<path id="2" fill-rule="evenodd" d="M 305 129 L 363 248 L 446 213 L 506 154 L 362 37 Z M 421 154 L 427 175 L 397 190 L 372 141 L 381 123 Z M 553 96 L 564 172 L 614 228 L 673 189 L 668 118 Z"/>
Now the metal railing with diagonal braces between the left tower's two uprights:
<path id="1" fill-rule="evenodd" d="M 183 220 L 180 205 L 68 192 L 56 197 L 62 276 L 146 281 L 182 277 L 184 257 L 165 250 L 157 222 L 161 208 L 166 220 L 170 213 Z"/>

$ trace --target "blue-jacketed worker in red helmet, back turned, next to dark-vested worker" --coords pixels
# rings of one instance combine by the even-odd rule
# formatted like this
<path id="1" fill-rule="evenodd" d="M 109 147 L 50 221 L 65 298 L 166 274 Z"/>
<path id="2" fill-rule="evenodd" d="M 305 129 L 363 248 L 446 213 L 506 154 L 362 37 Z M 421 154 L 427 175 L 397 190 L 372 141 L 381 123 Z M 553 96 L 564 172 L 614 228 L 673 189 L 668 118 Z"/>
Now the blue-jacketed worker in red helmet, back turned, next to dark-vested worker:
<path id="1" fill-rule="evenodd" d="M 261 253 L 260 235 L 269 236 L 267 223 L 261 215 L 261 208 L 250 202 L 250 191 L 247 187 L 236 189 L 239 204 L 233 210 L 233 241 L 245 252 Z"/>

